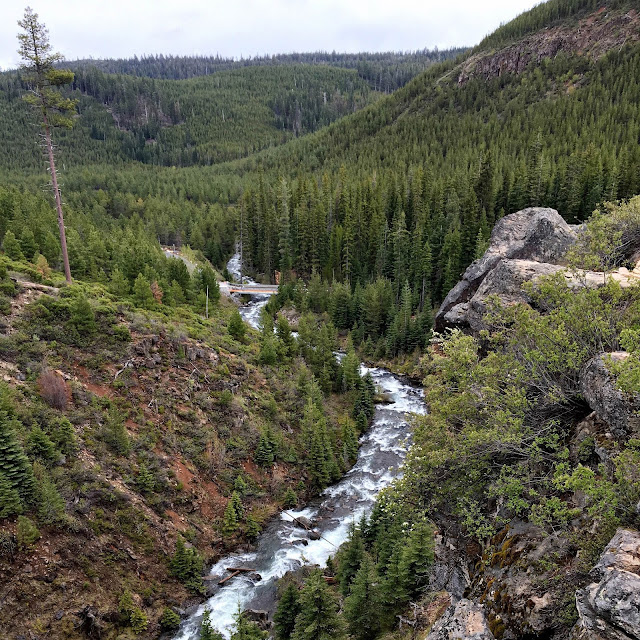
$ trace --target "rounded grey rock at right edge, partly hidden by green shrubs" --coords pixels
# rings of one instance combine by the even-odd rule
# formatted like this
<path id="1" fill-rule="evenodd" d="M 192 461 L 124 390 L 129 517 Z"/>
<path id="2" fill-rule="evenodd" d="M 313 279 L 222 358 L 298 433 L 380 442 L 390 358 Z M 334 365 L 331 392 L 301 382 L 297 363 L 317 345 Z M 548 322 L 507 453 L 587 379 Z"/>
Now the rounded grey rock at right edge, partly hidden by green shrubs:
<path id="1" fill-rule="evenodd" d="M 620 362 L 628 356 L 624 351 L 596 356 L 580 376 L 582 395 L 616 438 L 628 437 L 640 428 L 640 396 L 620 391 L 608 370 L 609 363 Z"/>

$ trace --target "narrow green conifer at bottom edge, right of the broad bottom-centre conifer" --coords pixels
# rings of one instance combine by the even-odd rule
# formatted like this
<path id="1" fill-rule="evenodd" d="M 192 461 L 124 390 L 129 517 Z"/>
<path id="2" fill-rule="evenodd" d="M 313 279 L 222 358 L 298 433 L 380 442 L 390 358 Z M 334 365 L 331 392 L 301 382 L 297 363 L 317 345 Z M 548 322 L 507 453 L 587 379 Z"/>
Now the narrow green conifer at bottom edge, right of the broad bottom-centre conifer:
<path id="1" fill-rule="evenodd" d="M 344 616 L 355 640 L 372 640 L 380 630 L 380 590 L 376 567 L 365 553 L 344 601 Z"/>

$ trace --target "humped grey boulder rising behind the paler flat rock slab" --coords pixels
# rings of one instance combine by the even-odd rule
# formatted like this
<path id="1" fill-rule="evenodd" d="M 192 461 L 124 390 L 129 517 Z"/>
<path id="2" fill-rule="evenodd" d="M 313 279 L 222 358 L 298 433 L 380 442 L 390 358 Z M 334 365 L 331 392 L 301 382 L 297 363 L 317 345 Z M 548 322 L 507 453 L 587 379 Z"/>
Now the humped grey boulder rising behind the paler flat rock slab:
<path id="1" fill-rule="evenodd" d="M 464 324 L 465 314 L 454 307 L 468 303 L 487 274 L 503 259 L 559 264 L 576 238 L 575 229 L 555 209 L 535 207 L 505 216 L 494 227 L 484 256 L 469 266 L 445 298 L 435 318 L 436 331 L 455 326 L 456 322 Z"/>

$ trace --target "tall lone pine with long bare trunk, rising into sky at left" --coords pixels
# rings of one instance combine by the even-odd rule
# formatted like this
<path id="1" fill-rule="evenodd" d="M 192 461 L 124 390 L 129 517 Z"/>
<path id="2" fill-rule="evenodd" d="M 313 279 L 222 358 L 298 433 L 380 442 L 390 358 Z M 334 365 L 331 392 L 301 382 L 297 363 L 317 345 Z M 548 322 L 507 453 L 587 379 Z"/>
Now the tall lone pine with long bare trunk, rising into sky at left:
<path id="1" fill-rule="evenodd" d="M 51 45 L 49 44 L 49 32 L 43 24 L 38 22 L 37 13 L 27 7 L 24 12 L 24 18 L 18 24 L 24 31 L 24 33 L 18 34 L 20 42 L 19 53 L 22 58 L 20 69 L 23 79 L 32 88 L 32 92 L 25 95 L 24 99 L 36 108 L 42 118 L 45 147 L 51 174 L 51 187 L 58 213 L 64 273 L 67 282 L 71 283 L 62 200 L 58 186 L 51 130 L 54 127 L 70 129 L 73 126 L 70 114 L 75 112 L 76 102 L 62 97 L 56 90 L 57 87 L 73 82 L 73 73 L 57 68 L 57 64 L 62 60 L 62 55 L 52 53 Z"/>

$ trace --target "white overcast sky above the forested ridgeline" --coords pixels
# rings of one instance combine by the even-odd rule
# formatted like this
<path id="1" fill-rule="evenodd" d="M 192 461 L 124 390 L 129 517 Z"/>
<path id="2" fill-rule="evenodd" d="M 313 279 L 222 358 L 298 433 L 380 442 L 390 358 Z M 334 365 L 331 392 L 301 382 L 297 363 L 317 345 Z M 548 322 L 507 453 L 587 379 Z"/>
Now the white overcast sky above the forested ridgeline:
<path id="1" fill-rule="evenodd" d="M 0 68 L 18 64 L 29 0 L 0 0 Z M 31 0 L 67 59 L 248 57 L 476 44 L 538 0 Z"/>

